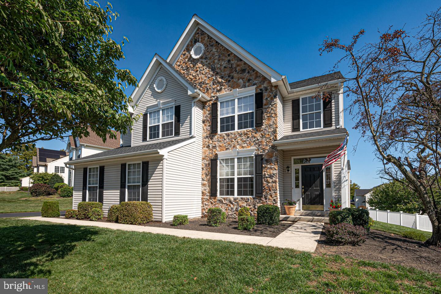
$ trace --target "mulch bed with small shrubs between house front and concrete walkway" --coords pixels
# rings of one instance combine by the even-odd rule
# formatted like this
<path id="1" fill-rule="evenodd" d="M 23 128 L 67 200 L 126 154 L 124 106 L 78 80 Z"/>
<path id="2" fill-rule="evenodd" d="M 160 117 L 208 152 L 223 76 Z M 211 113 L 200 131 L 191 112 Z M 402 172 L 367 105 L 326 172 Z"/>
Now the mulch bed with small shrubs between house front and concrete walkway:
<path id="1" fill-rule="evenodd" d="M 213 233 L 224 233 L 224 234 L 238 234 L 238 235 L 248 235 L 248 236 L 259 236 L 259 237 L 277 237 L 280 233 L 291 227 L 295 222 L 280 223 L 276 226 L 258 225 L 256 224 L 254 228 L 250 231 L 238 230 L 237 220 L 227 220 L 226 223 L 221 223 L 219 227 L 209 227 L 207 225 L 207 219 L 191 219 L 188 220 L 187 225 L 172 226 L 172 222 L 161 223 L 161 222 L 150 222 L 145 226 L 149 227 L 166 227 L 169 229 L 179 229 L 179 230 L 191 230 L 191 231 L 204 231 Z"/>

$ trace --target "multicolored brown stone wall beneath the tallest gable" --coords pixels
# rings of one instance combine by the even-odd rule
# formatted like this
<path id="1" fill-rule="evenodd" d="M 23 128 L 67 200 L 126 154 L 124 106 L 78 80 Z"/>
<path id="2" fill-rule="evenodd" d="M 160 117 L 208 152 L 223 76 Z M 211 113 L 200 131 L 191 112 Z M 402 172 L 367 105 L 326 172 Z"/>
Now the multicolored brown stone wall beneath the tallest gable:
<path id="1" fill-rule="evenodd" d="M 191 57 L 191 48 L 197 42 L 205 47 L 199 59 Z M 277 86 L 273 86 L 254 68 L 241 60 L 207 33 L 198 29 L 174 65 L 198 89 L 212 99 L 204 104 L 202 133 L 202 216 L 208 208 L 220 207 L 229 217 L 236 218 L 237 211 L 248 206 L 252 214 L 262 204 L 278 204 L 277 149 L 272 145 L 277 140 Z M 256 86 L 256 92 L 263 91 L 263 126 L 251 130 L 210 134 L 211 104 L 217 95 Z M 210 197 L 210 159 L 217 151 L 257 148 L 257 154 L 264 154 L 263 197 Z"/>

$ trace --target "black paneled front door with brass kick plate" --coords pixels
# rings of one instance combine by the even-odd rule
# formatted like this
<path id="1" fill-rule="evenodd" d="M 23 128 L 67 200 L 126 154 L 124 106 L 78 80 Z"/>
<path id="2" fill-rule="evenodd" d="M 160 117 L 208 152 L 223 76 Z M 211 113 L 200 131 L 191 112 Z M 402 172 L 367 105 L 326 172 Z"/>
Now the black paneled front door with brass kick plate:
<path id="1" fill-rule="evenodd" d="M 323 205 L 323 172 L 321 164 L 302 165 L 303 205 Z"/>

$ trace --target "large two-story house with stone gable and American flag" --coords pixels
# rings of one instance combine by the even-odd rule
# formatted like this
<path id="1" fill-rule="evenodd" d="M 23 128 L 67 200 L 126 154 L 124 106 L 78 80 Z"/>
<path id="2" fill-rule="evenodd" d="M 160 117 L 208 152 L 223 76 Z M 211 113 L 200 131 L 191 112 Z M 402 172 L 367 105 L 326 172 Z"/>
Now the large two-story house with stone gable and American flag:
<path id="1" fill-rule="evenodd" d="M 72 159 L 74 205 L 149 201 L 153 219 L 230 217 L 247 206 L 300 200 L 297 209 L 349 206 L 348 156 L 321 171 L 344 140 L 340 72 L 288 79 L 194 15 L 132 93 L 135 123 L 122 147 Z M 329 93 L 328 100 L 316 95 Z M 138 119 L 139 118 L 139 119 Z"/>

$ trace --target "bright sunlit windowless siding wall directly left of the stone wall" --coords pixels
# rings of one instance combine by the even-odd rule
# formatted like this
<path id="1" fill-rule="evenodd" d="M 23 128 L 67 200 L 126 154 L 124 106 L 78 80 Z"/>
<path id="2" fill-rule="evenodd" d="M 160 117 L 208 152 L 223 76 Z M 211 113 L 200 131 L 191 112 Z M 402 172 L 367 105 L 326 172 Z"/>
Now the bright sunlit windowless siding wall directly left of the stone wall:
<path id="1" fill-rule="evenodd" d="M 201 216 L 202 103 L 196 102 L 196 141 L 168 153 L 165 164 L 164 221 L 176 214 Z"/>

